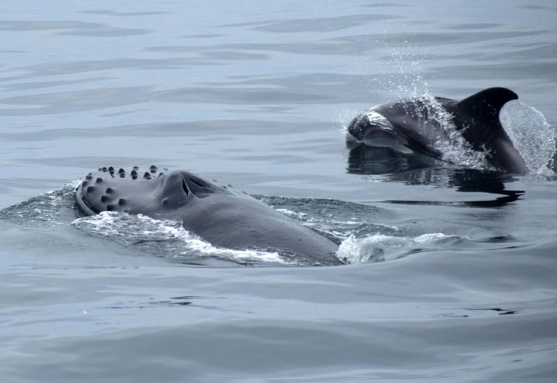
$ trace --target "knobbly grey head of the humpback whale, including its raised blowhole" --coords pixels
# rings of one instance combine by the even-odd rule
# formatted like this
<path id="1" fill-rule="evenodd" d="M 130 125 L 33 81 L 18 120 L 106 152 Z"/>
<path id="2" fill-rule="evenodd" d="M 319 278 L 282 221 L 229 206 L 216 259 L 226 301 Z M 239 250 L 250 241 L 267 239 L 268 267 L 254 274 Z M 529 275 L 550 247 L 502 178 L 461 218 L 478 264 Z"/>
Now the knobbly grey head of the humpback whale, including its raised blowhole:
<path id="1" fill-rule="evenodd" d="M 165 173 L 156 166 L 144 173 L 136 167 L 129 173 L 124 169 L 101 168 L 89 173 L 76 189 L 81 215 L 116 211 L 172 217 L 175 212 L 178 217 L 192 201 L 212 194 L 233 192 L 189 171 Z"/>

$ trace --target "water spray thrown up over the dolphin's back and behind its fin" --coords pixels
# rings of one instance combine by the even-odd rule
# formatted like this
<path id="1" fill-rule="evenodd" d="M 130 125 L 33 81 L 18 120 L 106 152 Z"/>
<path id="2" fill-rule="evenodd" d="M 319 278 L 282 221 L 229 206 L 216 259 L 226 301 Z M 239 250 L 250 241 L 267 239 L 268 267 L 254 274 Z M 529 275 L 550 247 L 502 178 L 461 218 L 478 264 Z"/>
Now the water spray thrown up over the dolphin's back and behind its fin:
<path id="1" fill-rule="evenodd" d="M 416 47 L 408 46 L 404 51 Z M 473 150 L 453 123 L 453 116 L 441 106 L 430 92 L 423 73 L 423 63 L 418 56 L 411 60 L 403 50 L 391 48 L 389 68 L 395 72 L 386 77 L 376 77 L 377 88 L 393 93 L 393 99 L 413 100 L 409 108 L 417 111 L 422 120 L 423 131 L 434 143 L 434 148 L 443 153 L 446 162 L 469 169 L 494 170 L 486 159 L 487 153 Z M 512 143 L 524 157 L 532 174 L 554 175 L 553 158 L 556 154 L 555 133 L 540 111 L 519 102 L 508 102 L 501 111 L 501 125 Z M 433 127 L 433 128 L 432 128 Z"/>

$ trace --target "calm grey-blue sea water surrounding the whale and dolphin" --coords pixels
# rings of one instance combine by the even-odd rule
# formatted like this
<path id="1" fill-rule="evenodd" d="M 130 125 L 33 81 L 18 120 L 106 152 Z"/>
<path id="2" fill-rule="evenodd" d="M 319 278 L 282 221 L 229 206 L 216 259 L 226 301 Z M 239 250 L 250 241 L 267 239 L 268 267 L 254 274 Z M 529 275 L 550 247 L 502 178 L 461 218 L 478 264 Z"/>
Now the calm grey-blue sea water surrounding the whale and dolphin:
<path id="1" fill-rule="evenodd" d="M 505 86 L 557 125 L 554 1 L 427 4 L 0 6 L 1 380 L 554 382 L 551 171 L 398 167 L 345 147 L 358 112 L 424 92 Z M 515 125 L 531 122 L 520 110 Z M 350 264 L 267 262 L 137 217 L 74 221 L 79 178 L 150 164 L 254 194 Z"/>

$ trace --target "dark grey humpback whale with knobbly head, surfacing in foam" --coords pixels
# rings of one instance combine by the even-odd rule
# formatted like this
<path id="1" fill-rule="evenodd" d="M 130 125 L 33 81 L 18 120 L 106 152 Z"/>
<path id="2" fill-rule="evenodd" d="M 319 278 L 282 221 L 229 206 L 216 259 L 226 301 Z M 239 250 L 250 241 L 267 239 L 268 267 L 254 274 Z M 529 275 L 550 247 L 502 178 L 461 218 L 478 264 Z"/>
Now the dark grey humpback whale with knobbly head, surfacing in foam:
<path id="1" fill-rule="evenodd" d="M 81 216 L 103 211 L 144 214 L 182 221 L 185 230 L 214 246 L 278 251 L 305 265 L 342 264 L 331 240 L 251 196 L 188 171 L 102 168 L 86 176 L 75 197 Z"/>

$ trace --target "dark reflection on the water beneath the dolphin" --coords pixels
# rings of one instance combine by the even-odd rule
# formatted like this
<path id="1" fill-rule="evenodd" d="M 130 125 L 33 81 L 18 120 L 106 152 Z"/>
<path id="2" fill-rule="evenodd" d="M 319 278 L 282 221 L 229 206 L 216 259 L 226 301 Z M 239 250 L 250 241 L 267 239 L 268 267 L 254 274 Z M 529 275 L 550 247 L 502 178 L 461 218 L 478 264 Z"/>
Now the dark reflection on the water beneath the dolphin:
<path id="1" fill-rule="evenodd" d="M 496 207 L 517 201 L 524 191 L 508 190 L 505 183 L 517 178 L 508 173 L 480 169 L 458 168 L 419 153 L 400 153 L 391 148 L 374 148 L 358 145 L 350 148 L 347 173 L 360 175 L 382 175 L 386 180 L 404 182 L 406 185 L 434 185 L 451 187 L 457 192 L 483 192 L 497 197 L 480 201 L 386 201 L 414 205 L 468 205 Z"/>

